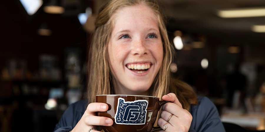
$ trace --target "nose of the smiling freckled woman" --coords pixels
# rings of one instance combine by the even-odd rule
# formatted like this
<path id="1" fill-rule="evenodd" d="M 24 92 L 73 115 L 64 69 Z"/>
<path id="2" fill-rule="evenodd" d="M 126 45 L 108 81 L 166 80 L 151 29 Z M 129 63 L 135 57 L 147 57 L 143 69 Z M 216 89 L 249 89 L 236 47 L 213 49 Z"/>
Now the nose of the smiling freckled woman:
<path id="1" fill-rule="evenodd" d="M 140 55 L 140 56 L 148 54 L 148 49 L 146 48 L 145 40 L 135 40 L 132 43 L 131 52 L 133 55 Z"/>

